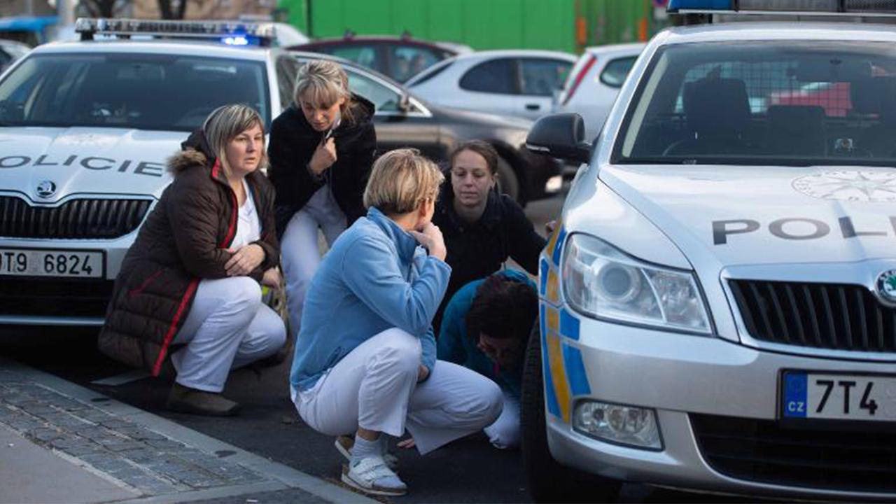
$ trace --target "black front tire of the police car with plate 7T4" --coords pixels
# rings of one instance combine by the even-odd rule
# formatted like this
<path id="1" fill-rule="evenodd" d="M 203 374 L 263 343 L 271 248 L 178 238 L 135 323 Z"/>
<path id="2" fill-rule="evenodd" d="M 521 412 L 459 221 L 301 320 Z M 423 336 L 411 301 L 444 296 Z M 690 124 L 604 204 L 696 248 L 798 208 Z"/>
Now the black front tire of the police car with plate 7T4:
<path id="1" fill-rule="evenodd" d="M 536 502 L 614 502 L 622 482 L 564 467 L 547 447 L 541 338 L 532 328 L 522 371 L 521 451 L 529 494 Z"/>

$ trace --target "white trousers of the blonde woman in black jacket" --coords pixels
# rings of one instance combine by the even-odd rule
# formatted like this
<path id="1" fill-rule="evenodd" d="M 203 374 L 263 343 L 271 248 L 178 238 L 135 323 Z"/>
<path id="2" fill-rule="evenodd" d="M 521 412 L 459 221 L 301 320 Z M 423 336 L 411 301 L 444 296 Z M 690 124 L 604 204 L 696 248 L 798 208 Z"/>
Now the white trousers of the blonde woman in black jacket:
<path id="1" fill-rule="evenodd" d="M 317 230 L 323 231 L 327 245 L 332 246 L 346 228 L 345 214 L 333 199 L 329 186 L 323 186 L 308 203 L 289 220 L 280 240 L 280 263 L 286 281 L 286 303 L 289 308 L 289 328 L 298 334 L 302 320 L 302 304 L 317 266 L 321 252 L 317 247 Z"/>

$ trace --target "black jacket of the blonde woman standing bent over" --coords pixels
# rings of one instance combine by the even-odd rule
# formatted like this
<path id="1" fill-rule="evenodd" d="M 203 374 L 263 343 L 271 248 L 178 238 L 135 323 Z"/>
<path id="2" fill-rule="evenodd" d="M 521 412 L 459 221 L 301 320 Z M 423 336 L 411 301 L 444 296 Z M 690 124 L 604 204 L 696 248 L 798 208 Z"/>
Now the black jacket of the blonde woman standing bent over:
<path id="1" fill-rule="evenodd" d="M 355 121 L 342 121 L 333 132 L 337 159 L 319 180 L 311 175 L 307 165 L 324 134 L 308 124 L 295 103 L 274 119 L 268 146 L 268 178 L 277 189 L 274 212 L 278 237 L 286 230 L 289 219 L 327 182 L 349 226 L 366 213 L 362 198 L 376 149 L 374 104 L 358 95 L 353 95 L 353 100 L 358 103 Z"/>

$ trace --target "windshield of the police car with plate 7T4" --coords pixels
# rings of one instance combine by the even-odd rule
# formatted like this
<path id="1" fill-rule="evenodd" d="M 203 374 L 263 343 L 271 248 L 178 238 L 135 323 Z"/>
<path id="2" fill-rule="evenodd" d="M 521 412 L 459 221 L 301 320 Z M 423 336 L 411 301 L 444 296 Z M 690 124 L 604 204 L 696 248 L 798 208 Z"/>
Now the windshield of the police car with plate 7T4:
<path id="1" fill-rule="evenodd" d="M 737 42 L 660 48 L 614 162 L 896 166 L 896 48 Z"/>

